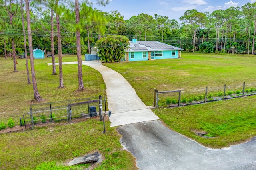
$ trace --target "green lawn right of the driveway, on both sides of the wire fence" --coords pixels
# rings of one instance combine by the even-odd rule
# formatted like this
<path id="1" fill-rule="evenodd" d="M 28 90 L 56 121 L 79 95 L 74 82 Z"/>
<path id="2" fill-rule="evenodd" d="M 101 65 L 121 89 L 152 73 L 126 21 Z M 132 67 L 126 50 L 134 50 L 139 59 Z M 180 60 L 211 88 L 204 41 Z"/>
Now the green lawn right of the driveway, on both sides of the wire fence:
<path id="1" fill-rule="evenodd" d="M 153 105 L 154 88 L 160 91 L 182 89 L 182 96 L 204 95 L 227 90 L 256 88 L 256 56 L 182 53 L 180 59 L 104 63 L 126 78 L 148 106 Z M 170 129 L 205 146 L 220 148 L 256 136 L 256 96 L 208 104 L 166 108 L 166 98 L 178 93 L 160 94 L 160 107 L 153 109 Z M 195 135 L 205 132 L 205 138 Z"/>

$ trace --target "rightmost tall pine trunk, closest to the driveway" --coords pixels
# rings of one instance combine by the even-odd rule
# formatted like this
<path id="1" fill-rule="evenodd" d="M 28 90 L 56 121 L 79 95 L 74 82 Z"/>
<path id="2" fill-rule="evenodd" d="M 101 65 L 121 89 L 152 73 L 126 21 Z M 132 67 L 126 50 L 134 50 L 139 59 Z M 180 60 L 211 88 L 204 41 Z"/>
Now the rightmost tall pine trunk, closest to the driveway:
<path id="1" fill-rule="evenodd" d="M 83 72 L 82 72 L 82 59 L 81 59 L 81 37 L 80 37 L 80 28 L 79 24 L 79 2 L 75 0 L 75 12 L 76 12 L 76 51 L 77 51 L 77 66 L 78 66 L 78 91 L 84 91 L 84 81 L 83 81 Z"/>

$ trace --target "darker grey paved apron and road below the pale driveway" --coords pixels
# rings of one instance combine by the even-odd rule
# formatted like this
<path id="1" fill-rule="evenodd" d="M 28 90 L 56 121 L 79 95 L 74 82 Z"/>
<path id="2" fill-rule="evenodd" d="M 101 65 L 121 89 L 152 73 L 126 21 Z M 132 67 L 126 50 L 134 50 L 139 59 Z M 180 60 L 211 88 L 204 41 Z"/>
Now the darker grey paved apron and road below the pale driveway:
<path id="1" fill-rule="evenodd" d="M 209 149 L 150 121 L 118 127 L 124 149 L 136 157 L 141 170 L 256 169 L 256 137 L 224 149 Z"/>

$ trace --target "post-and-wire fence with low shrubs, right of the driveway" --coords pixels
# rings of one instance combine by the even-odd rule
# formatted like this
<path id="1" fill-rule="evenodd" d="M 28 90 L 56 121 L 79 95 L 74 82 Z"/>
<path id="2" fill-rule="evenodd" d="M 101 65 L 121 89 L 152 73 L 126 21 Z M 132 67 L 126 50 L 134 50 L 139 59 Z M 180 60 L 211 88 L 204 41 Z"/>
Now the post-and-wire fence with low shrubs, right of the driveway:
<path id="1" fill-rule="evenodd" d="M 158 89 L 154 89 L 154 107 L 155 108 L 158 108 L 159 106 L 179 107 L 179 106 L 187 106 L 187 105 L 193 105 L 193 104 L 201 104 L 206 102 L 214 102 L 219 100 L 227 100 L 231 98 L 239 98 L 244 96 L 256 95 L 255 86 L 256 86 L 255 83 L 246 85 L 244 82 L 241 86 L 224 85 L 222 88 L 206 87 L 203 90 L 200 88 L 198 92 L 202 92 L 202 93 L 197 95 L 195 95 L 194 92 L 190 94 L 189 93 L 182 94 L 182 90 L 159 91 Z M 161 94 L 161 100 L 159 98 L 160 94 Z"/>

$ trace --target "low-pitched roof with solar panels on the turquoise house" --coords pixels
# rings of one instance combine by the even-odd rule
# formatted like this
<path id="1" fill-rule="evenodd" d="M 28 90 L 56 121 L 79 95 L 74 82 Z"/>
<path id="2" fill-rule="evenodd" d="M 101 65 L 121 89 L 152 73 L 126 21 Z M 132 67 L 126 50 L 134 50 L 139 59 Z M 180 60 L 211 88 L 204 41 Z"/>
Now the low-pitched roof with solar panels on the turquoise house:
<path id="1" fill-rule="evenodd" d="M 159 41 L 129 41 L 130 51 L 169 51 L 169 50 L 183 50 L 181 48 L 161 43 Z"/>

